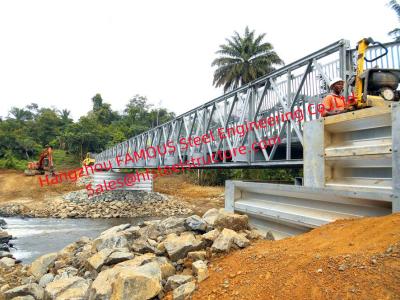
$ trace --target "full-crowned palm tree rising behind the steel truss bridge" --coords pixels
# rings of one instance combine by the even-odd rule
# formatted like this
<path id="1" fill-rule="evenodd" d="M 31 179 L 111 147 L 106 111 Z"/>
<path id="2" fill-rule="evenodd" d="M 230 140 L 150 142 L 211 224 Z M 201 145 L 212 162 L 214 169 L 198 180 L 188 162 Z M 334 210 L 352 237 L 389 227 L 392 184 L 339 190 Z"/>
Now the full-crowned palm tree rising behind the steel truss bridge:
<path id="1" fill-rule="evenodd" d="M 265 33 L 255 37 L 246 26 L 244 36 L 235 31 L 231 39 L 226 39 L 227 43 L 216 52 L 221 56 L 211 64 L 218 67 L 213 84 L 223 86 L 226 92 L 270 73 L 275 70 L 274 65 L 283 64 L 273 46 L 263 41 L 264 37 Z"/>

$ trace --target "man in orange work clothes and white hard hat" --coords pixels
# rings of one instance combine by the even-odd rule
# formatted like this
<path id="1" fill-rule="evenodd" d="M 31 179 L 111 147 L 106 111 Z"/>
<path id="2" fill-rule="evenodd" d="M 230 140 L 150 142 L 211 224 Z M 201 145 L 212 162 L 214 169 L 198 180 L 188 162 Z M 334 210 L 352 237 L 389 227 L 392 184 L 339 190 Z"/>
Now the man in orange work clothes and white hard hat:
<path id="1" fill-rule="evenodd" d="M 324 112 L 322 113 L 323 117 L 333 116 L 353 110 L 353 107 L 350 106 L 342 96 L 343 87 L 344 80 L 342 78 L 336 77 L 331 80 L 329 88 L 332 93 L 327 95 L 322 101 L 322 104 L 324 105 Z"/>

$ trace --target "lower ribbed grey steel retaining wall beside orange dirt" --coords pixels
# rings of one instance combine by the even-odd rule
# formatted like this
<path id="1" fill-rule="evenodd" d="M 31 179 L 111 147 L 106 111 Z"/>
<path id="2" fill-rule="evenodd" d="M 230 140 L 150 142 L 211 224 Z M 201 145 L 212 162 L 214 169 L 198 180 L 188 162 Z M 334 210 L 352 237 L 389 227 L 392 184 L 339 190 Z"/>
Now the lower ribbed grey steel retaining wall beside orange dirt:
<path id="1" fill-rule="evenodd" d="M 252 225 L 276 239 L 297 235 L 337 219 L 392 212 L 391 195 L 375 191 L 226 181 L 225 209 L 245 213 Z"/>

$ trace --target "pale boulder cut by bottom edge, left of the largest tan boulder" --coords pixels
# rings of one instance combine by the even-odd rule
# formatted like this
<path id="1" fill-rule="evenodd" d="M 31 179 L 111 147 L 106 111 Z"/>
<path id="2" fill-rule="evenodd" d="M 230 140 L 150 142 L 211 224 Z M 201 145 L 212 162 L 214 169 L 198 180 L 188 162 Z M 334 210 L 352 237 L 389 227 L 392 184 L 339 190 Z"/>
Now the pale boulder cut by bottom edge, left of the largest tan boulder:
<path id="1" fill-rule="evenodd" d="M 89 281 L 77 276 L 55 280 L 46 286 L 44 299 L 87 299 L 89 285 Z"/>

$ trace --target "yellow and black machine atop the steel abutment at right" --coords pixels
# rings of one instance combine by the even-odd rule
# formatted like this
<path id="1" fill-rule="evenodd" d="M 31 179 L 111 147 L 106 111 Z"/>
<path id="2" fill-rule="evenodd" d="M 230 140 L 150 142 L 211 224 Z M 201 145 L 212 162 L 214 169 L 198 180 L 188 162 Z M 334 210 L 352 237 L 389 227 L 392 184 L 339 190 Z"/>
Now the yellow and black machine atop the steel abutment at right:
<path id="1" fill-rule="evenodd" d="M 377 57 L 368 59 L 365 53 L 369 45 L 377 45 L 384 52 Z M 364 38 L 357 45 L 357 66 L 355 77 L 356 107 L 379 105 L 382 100 L 396 101 L 400 98 L 397 87 L 400 81 L 400 71 L 396 69 L 371 68 L 364 70 L 364 61 L 373 62 L 387 54 L 387 48 L 372 38 Z"/>

